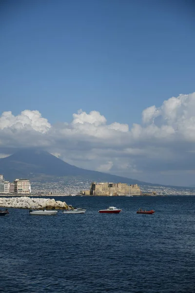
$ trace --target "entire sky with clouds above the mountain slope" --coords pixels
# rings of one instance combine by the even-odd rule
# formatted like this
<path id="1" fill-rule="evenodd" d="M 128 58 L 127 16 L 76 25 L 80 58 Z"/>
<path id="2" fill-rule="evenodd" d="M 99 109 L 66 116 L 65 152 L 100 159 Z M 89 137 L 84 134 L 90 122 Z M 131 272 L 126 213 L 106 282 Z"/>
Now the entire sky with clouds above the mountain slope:
<path id="1" fill-rule="evenodd" d="M 0 2 L 0 157 L 195 185 L 195 5 Z"/>

